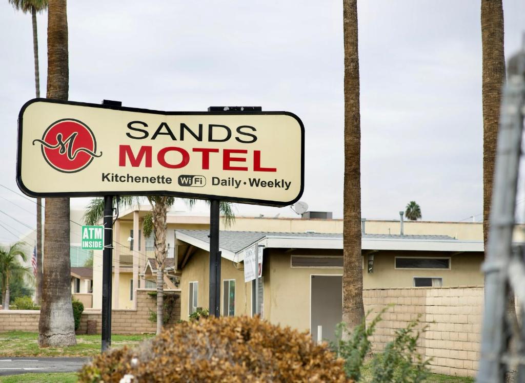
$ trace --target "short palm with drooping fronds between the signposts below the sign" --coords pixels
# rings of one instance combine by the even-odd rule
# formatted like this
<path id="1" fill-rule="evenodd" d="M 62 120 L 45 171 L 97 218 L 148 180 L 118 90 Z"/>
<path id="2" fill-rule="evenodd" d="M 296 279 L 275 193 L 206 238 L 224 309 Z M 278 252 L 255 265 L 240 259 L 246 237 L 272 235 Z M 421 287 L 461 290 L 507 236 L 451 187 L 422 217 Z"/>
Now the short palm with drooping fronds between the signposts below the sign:
<path id="1" fill-rule="evenodd" d="M 153 223 L 153 232 L 155 235 L 155 261 L 157 263 L 157 330 L 156 333 L 160 334 L 163 326 L 163 307 L 164 307 L 164 267 L 167 257 L 166 247 L 166 233 L 167 233 L 167 211 L 175 203 L 174 197 L 169 196 L 146 196 L 151 205 L 151 221 Z M 140 197 L 119 197 L 117 198 L 117 204 L 119 206 L 132 206 L 133 204 L 139 204 Z M 192 207 L 195 204 L 194 199 L 187 199 L 186 203 Z M 222 202 L 219 205 L 220 211 L 223 214 L 223 221 L 226 226 L 232 224 L 235 220 L 235 216 L 232 210 L 232 205 L 227 202 Z M 104 213 L 104 199 L 94 198 L 90 201 L 86 213 L 84 215 L 84 221 L 87 225 L 96 225 L 102 219 Z M 145 219 L 144 221 L 146 221 Z M 149 226 L 151 227 L 151 226 Z M 150 229 L 143 228 L 144 236 L 148 237 L 151 233 Z"/>

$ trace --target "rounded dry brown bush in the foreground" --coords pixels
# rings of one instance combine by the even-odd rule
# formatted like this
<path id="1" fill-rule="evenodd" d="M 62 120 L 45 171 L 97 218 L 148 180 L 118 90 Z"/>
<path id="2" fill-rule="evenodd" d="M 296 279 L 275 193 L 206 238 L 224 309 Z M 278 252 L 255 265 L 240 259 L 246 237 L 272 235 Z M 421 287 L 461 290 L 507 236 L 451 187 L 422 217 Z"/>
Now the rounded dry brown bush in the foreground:
<path id="1" fill-rule="evenodd" d="M 134 349 L 104 353 L 80 382 L 348 382 L 343 360 L 308 333 L 258 318 L 183 322 Z"/>

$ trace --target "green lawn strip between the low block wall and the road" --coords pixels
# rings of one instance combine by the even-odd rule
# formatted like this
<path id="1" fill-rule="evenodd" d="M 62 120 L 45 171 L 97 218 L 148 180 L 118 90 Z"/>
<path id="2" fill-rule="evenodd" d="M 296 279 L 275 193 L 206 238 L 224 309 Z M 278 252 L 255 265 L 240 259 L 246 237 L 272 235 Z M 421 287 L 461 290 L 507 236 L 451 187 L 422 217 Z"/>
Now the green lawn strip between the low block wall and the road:
<path id="1" fill-rule="evenodd" d="M 111 347 L 117 348 L 124 345 L 133 346 L 139 344 L 144 339 L 153 336 L 153 334 L 112 335 Z M 0 357 L 96 356 L 100 354 L 100 335 L 77 335 L 77 345 L 71 347 L 40 348 L 38 347 L 37 339 L 37 333 L 27 333 L 22 331 L 0 333 Z"/>

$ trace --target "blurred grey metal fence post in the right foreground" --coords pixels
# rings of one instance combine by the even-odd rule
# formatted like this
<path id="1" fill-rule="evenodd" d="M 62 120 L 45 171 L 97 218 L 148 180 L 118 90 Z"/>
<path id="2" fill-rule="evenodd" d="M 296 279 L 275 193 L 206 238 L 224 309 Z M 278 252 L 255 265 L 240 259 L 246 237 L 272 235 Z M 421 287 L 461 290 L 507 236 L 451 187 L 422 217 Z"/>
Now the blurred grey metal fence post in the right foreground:
<path id="1" fill-rule="evenodd" d="M 483 265 L 485 313 L 477 377 L 482 383 L 503 382 L 508 363 L 503 359 L 509 354 L 507 295 L 523 131 L 525 52 L 510 58 L 507 73 L 509 77 L 502 93 L 489 238 Z M 512 287 L 516 291 L 516 286 Z M 521 375 L 522 368 L 519 370 Z M 523 381 L 522 376 L 519 381 Z"/>

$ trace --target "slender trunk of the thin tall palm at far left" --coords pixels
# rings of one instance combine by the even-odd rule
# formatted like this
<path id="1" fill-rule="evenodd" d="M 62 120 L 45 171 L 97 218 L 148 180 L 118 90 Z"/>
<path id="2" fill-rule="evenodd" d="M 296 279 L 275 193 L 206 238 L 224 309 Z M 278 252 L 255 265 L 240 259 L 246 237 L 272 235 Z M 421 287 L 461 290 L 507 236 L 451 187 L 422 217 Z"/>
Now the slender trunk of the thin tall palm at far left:
<path id="1" fill-rule="evenodd" d="M 33 22 L 33 52 L 35 56 L 35 95 L 40 97 L 40 71 L 38 65 L 38 33 L 36 24 L 36 9 L 31 7 Z M 42 199 L 36 199 L 36 291 L 35 303 L 42 299 Z"/>

